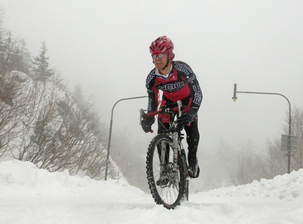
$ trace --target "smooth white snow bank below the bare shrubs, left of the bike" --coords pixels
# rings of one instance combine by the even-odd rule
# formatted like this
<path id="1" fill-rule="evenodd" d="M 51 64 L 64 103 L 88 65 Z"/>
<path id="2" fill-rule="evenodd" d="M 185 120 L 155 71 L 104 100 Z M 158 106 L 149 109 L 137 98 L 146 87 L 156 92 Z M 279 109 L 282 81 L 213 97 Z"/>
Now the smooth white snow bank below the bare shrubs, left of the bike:
<path id="1" fill-rule="evenodd" d="M 82 195 L 144 195 L 126 181 L 96 181 L 85 176 L 70 176 L 68 171 L 48 172 L 31 162 L 10 160 L 0 163 L 0 197 L 72 196 Z"/>

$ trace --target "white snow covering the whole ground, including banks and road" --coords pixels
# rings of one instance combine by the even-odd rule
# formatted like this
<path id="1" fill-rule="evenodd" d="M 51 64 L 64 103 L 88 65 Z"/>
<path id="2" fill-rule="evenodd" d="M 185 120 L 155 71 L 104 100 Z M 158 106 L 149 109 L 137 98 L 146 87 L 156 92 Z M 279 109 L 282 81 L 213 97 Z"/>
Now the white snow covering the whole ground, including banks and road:
<path id="1" fill-rule="evenodd" d="M 251 184 L 189 195 L 174 210 L 125 180 L 50 173 L 0 163 L 0 223 L 303 223 L 303 169 Z"/>

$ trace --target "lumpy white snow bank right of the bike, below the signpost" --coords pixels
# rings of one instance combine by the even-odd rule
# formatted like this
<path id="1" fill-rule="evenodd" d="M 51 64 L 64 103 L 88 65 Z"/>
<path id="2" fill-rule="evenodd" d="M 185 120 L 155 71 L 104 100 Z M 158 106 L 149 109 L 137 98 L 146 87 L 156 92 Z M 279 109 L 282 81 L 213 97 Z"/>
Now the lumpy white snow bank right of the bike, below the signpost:
<path id="1" fill-rule="evenodd" d="M 251 184 L 219 188 L 205 193 L 204 196 L 217 197 L 247 197 L 258 196 L 260 198 L 278 197 L 288 201 L 298 196 L 303 196 L 303 169 L 293 171 L 290 174 L 277 176 L 272 180 L 261 179 Z"/>

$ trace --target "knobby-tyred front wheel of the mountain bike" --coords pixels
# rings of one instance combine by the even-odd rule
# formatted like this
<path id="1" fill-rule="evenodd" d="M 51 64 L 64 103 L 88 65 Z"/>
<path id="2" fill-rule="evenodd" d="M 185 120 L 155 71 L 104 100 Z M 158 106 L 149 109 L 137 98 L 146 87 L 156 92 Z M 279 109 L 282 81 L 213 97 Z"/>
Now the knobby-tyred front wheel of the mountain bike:
<path id="1" fill-rule="evenodd" d="M 165 150 L 165 153 L 163 153 L 162 150 Z M 161 152 L 163 163 L 162 169 Z M 157 204 L 163 204 L 164 207 L 168 209 L 174 208 L 180 204 L 185 191 L 186 178 L 179 153 L 177 159 L 177 171 L 178 172 L 174 169 L 172 139 L 165 134 L 157 135 L 150 142 L 147 151 L 147 181 L 150 193 L 153 195 L 155 202 Z M 161 181 L 163 176 L 166 178 L 164 182 Z M 160 179 L 160 177 L 162 179 Z"/>

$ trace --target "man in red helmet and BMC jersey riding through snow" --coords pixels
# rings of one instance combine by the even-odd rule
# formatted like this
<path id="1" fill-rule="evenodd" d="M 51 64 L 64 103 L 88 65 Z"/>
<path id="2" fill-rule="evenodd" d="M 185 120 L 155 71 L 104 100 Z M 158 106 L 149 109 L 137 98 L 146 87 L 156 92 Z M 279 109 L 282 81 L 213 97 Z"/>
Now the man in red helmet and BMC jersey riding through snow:
<path id="1" fill-rule="evenodd" d="M 151 42 L 149 51 L 153 58 L 155 67 L 146 78 L 146 88 L 148 93 L 147 113 L 157 110 L 160 103 L 158 96 L 159 90 L 163 91 L 161 105 L 182 101 L 183 105 L 190 107 L 183 112 L 180 121 L 184 125 L 186 132 L 186 142 L 188 144 L 188 164 L 189 176 L 197 178 L 199 176 L 199 166 L 196 152 L 199 143 L 198 118 L 197 112 L 202 100 L 202 92 L 195 74 L 191 68 L 184 62 L 173 61 L 175 54 L 173 53 L 174 44 L 167 36 L 161 36 Z M 147 117 L 141 122 L 144 132 L 150 132 L 151 125 L 155 122 L 155 117 Z M 159 115 L 158 118 L 158 134 L 165 129 L 163 125 L 169 127 L 169 119 Z M 165 184 L 165 177 L 161 176 L 157 181 L 157 185 Z"/>

